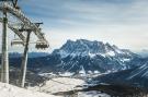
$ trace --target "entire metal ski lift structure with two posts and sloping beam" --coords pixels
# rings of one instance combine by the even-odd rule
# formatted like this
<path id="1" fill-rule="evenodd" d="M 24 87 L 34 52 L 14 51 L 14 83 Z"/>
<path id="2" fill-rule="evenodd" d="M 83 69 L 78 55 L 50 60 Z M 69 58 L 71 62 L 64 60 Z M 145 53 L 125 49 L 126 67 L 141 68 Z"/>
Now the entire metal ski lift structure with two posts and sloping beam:
<path id="1" fill-rule="evenodd" d="M 48 41 L 46 40 L 44 34 L 42 33 L 39 26 L 36 23 L 32 23 L 29 17 L 26 17 L 23 12 L 15 8 L 12 0 L 2 0 L 0 2 L 0 11 L 3 13 L 3 17 L 0 17 L 0 22 L 3 25 L 2 31 L 2 61 L 1 61 L 1 82 L 9 83 L 9 57 L 8 57 L 8 38 L 7 38 L 7 26 L 15 33 L 19 38 L 22 40 L 22 45 L 24 46 L 24 54 L 22 57 L 21 64 L 21 73 L 20 73 L 20 86 L 24 87 L 25 82 L 25 73 L 26 73 L 26 64 L 27 64 L 27 51 L 29 51 L 29 43 L 30 35 L 33 32 L 38 40 L 36 41 L 36 48 L 48 48 Z M 19 27 L 12 25 L 11 21 L 8 20 L 8 16 L 13 16 L 19 21 Z M 27 34 L 24 35 L 23 32 Z"/>

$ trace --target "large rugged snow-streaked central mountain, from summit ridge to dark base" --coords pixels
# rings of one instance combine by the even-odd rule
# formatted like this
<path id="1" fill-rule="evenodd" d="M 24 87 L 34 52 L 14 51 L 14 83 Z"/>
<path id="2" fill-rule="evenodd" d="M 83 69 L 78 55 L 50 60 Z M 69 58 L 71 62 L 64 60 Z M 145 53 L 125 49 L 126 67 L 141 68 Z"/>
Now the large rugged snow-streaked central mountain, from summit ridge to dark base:
<path id="1" fill-rule="evenodd" d="M 68 72 L 126 70 L 134 66 L 132 64 L 134 59 L 139 58 L 136 53 L 127 49 L 119 49 L 115 45 L 111 46 L 107 43 L 86 39 L 67 40 L 61 48 L 54 50 L 52 54 L 59 57 L 58 70 Z"/>

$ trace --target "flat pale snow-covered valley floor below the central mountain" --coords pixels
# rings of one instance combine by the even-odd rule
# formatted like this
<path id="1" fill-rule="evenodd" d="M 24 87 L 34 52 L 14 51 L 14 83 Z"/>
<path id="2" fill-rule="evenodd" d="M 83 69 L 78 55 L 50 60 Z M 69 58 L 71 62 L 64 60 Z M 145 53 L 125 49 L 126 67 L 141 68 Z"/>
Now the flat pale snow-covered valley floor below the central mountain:
<path id="1" fill-rule="evenodd" d="M 47 81 L 43 86 L 29 87 L 32 90 L 38 90 L 44 93 L 59 93 L 78 89 L 77 86 L 84 84 L 84 81 L 70 77 L 56 77 Z"/>

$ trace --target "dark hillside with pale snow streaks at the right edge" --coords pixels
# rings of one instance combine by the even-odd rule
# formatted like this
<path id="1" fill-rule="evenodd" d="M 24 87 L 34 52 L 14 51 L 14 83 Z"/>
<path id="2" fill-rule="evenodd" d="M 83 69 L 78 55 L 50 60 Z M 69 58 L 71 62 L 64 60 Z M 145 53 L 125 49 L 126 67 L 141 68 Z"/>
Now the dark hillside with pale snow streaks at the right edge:
<path id="1" fill-rule="evenodd" d="M 115 84 L 115 85 L 127 85 L 148 88 L 148 62 L 144 63 L 139 68 L 125 70 L 116 73 L 111 73 L 102 76 L 92 78 L 89 83 L 91 84 Z"/>

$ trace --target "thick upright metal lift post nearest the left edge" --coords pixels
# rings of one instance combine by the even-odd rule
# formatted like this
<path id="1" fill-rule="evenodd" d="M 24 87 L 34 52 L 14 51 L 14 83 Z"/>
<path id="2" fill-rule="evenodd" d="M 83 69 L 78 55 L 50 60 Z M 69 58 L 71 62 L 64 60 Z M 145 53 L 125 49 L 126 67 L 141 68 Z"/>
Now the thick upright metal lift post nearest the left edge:
<path id="1" fill-rule="evenodd" d="M 2 57 L 1 57 L 1 82 L 9 83 L 9 58 L 8 58 L 8 33 L 7 33 L 7 10 L 3 9 L 2 23 Z"/>

